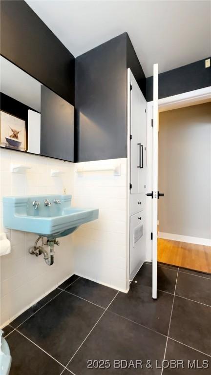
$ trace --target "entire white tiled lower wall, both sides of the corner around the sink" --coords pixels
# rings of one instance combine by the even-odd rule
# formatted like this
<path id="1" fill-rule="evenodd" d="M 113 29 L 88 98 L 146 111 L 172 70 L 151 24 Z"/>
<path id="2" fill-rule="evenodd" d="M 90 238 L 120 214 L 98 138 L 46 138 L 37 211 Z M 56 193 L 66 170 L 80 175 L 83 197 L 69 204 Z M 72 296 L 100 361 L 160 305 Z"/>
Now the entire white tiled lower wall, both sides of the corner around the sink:
<path id="1" fill-rule="evenodd" d="M 28 165 L 26 174 L 10 172 L 10 164 Z M 84 172 L 78 167 L 121 165 L 121 175 L 112 171 Z M 50 169 L 61 177 L 50 177 Z M 42 256 L 28 253 L 37 236 L 6 230 L 2 223 L 2 196 L 73 195 L 73 206 L 99 208 L 99 219 L 60 238 L 55 263 L 49 267 Z M 55 159 L 0 149 L 0 232 L 11 240 L 11 254 L 0 257 L 0 325 L 5 325 L 73 273 L 127 291 L 127 159 L 68 163 Z"/>

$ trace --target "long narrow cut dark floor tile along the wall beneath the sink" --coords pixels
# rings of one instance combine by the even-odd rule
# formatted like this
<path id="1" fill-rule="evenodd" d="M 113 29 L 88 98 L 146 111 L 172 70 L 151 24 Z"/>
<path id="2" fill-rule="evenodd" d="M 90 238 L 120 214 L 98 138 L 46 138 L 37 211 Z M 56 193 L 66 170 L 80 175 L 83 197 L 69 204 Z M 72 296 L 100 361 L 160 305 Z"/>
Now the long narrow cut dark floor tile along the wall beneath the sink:
<path id="1" fill-rule="evenodd" d="M 14 319 L 10 323 L 11 326 L 14 328 L 17 328 L 21 323 L 23 323 L 26 319 L 28 319 L 29 316 L 37 312 L 42 306 L 44 306 L 47 302 L 49 302 L 52 298 L 54 298 L 59 293 L 61 293 L 61 290 L 56 288 L 54 291 L 47 294 L 39 302 L 35 303 L 32 307 L 30 307 L 28 310 L 24 311 L 21 315 L 19 315 L 16 319 Z"/>

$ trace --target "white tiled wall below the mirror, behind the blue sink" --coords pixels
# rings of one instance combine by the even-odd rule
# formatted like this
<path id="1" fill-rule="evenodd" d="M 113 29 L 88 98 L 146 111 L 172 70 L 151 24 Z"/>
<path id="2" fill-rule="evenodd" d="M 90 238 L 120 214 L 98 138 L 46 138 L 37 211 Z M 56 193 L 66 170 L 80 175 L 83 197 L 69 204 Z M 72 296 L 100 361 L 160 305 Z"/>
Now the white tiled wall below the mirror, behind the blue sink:
<path id="1" fill-rule="evenodd" d="M 24 174 L 10 172 L 10 164 L 28 165 Z M 60 169 L 61 177 L 51 177 L 50 169 Z M 74 164 L 36 155 L 0 149 L 0 232 L 11 240 L 11 254 L 0 257 L 0 325 L 19 315 L 56 285 L 74 273 L 73 239 L 60 239 L 55 263 L 49 267 L 28 253 L 37 236 L 3 228 L 2 196 L 73 194 Z"/>

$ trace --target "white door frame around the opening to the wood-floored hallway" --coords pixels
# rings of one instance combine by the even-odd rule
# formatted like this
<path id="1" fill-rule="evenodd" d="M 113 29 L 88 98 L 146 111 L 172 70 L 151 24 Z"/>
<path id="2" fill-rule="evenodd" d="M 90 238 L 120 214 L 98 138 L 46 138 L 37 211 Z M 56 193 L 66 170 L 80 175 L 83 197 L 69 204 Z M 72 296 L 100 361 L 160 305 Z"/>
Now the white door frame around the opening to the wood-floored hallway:
<path id="1" fill-rule="evenodd" d="M 190 105 L 202 104 L 211 101 L 211 86 L 200 88 L 182 94 L 169 96 L 158 100 L 158 112 L 171 109 L 182 108 Z M 152 191 L 152 126 L 153 101 L 147 104 L 147 191 Z M 146 261 L 152 260 L 152 241 L 150 232 L 152 232 L 152 199 L 147 197 L 146 201 Z"/>

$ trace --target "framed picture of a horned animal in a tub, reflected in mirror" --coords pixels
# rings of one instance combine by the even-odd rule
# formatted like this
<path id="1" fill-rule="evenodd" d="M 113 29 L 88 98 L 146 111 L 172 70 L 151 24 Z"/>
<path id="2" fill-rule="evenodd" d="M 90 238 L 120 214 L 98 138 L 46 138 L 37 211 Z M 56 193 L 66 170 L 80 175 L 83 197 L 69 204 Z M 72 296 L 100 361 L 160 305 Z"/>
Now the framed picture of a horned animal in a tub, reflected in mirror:
<path id="1" fill-rule="evenodd" d="M 0 146 L 16 150 L 26 150 L 25 121 L 0 111 Z"/>

